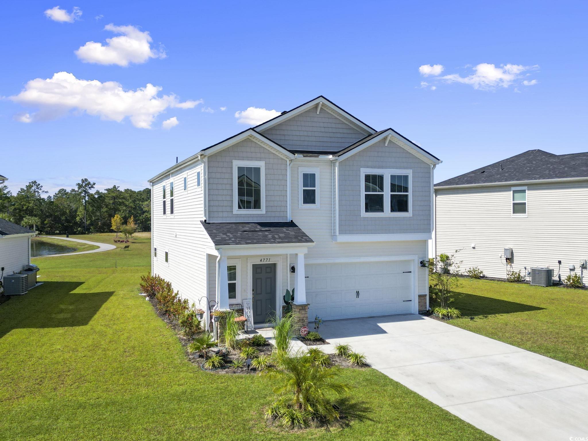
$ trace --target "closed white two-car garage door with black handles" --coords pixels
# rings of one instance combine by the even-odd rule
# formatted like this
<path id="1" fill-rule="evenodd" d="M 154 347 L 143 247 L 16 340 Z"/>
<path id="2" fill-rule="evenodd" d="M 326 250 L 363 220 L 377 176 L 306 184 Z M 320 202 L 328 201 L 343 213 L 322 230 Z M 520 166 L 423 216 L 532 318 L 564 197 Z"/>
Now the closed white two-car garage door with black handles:
<path id="1" fill-rule="evenodd" d="M 413 312 L 412 260 L 307 263 L 308 319 L 350 319 Z"/>

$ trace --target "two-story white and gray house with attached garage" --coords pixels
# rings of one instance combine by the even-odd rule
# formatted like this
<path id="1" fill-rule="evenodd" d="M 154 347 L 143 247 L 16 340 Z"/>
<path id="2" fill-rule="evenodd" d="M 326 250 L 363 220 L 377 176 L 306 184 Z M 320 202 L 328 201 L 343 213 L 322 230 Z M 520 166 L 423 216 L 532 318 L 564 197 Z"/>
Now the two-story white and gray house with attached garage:
<path id="1" fill-rule="evenodd" d="M 255 326 L 292 288 L 300 325 L 426 310 L 439 162 L 319 96 L 149 180 L 152 273 Z"/>

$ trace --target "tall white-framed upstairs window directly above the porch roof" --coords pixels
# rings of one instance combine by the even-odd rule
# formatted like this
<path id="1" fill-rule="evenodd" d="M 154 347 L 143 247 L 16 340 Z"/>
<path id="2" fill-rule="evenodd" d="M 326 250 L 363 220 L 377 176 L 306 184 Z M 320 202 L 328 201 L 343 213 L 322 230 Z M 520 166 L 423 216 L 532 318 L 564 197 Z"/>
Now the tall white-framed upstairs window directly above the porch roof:
<path id="1" fill-rule="evenodd" d="M 265 214 L 265 162 L 233 161 L 233 214 Z"/>

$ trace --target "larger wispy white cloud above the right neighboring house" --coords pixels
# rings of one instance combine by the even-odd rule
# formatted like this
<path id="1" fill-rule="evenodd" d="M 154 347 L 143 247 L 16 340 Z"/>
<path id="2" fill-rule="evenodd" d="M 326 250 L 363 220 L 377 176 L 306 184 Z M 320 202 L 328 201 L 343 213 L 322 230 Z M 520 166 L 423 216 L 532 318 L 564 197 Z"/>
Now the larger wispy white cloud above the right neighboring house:
<path id="1" fill-rule="evenodd" d="M 493 90 L 499 87 L 507 88 L 520 78 L 524 71 L 538 69 L 539 66 L 523 66 L 517 64 L 506 64 L 496 67 L 493 64 L 481 63 L 474 67 L 474 73 L 469 76 L 450 74 L 442 76 L 441 79 L 448 83 L 469 84 L 474 89 Z"/>

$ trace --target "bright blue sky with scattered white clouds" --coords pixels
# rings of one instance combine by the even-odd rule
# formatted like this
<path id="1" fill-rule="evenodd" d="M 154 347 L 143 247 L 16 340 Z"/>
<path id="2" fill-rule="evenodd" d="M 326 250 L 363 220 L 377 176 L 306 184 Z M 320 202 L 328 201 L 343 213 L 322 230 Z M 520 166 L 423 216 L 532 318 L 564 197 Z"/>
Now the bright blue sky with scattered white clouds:
<path id="1" fill-rule="evenodd" d="M 54 192 L 84 177 L 141 189 L 176 156 L 245 129 L 236 112 L 318 95 L 439 156 L 437 182 L 528 149 L 588 150 L 586 2 L 27 1 L 3 10 L 0 174 L 12 191 L 36 179 Z M 124 35 L 137 46 L 105 48 Z M 28 83 L 36 78 L 54 82 Z M 67 79 L 81 92 L 64 93 Z M 148 84 L 162 88 L 154 101 L 129 92 Z"/>

